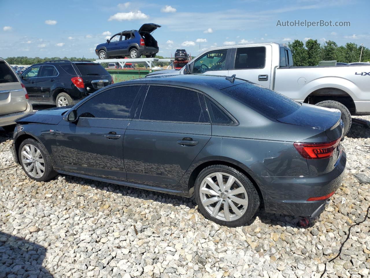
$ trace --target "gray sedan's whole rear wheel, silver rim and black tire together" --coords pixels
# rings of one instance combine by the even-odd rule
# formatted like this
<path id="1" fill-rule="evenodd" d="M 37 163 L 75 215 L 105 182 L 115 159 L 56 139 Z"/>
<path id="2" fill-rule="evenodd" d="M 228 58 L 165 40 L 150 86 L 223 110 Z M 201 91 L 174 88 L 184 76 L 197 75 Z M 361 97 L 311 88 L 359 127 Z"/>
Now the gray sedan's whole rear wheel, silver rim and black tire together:
<path id="1" fill-rule="evenodd" d="M 258 192 L 250 179 L 225 165 L 203 169 L 196 178 L 194 192 L 202 214 L 229 227 L 245 225 L 260 204 Z"/>

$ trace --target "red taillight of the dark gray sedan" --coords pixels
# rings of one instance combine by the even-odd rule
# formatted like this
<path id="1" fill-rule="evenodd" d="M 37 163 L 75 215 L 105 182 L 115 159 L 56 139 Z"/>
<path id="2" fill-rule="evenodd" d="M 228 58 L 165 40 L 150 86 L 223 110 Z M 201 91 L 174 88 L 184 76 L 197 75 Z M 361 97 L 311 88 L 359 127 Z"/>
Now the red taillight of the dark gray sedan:
<path id="1" fill-rule="evenodd" d="M 329 158 L 333 156 L 335 148 L 339 145 L 340 139 L 338 138 L 331 142 L 325 143 L 294 143 L 297 151 L 306 159 L 320 159 Z"/>

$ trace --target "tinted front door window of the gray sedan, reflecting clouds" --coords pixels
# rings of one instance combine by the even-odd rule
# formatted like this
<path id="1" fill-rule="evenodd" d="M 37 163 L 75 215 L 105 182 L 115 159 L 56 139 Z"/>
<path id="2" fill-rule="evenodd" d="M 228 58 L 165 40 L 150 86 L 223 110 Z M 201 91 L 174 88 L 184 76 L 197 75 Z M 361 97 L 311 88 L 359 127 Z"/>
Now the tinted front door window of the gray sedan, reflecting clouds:
<path id="1" fill-rule="evenodd" d="M 104 91 L 77 108 L 77 115 L 85 118 L 127 119 L 141 86 L 114 87 Z"/>

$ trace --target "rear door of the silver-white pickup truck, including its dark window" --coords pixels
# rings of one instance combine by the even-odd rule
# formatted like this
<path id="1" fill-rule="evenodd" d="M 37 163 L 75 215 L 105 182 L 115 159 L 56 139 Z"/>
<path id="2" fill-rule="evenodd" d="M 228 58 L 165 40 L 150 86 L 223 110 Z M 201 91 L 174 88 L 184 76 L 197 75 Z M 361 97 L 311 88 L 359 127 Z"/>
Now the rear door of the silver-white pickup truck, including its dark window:
<path id="1" fill-rule="evenodd" d="M 270 45 L 233 47 L 229 76 L 236 75 L 238 78 L 270 88 L 271 55 Z"/>

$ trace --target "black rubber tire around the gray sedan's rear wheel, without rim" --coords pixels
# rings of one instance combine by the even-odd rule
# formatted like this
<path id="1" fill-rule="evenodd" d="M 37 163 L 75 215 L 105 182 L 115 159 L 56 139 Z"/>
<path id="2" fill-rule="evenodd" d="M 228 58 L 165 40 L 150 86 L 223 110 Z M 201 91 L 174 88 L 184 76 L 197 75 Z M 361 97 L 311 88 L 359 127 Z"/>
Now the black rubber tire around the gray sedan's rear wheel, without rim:
<path id="1" fill-rule="evenodd" d="M 212 173 L 216 173 L 216 172 L 222 172 L 228 175 L 232 175 L 234 178 L 238 179 L 238 181 L 242 184 L 242 186 L 246 190 L 246 193 L 248 196 L 248 205 L 247 205 L 246 210 L 244 211 L 244 214 L 236 220 L 226 221 L 226 220 L 222 220 L 222 219 L 218 219 L 214 217 L 206 210 L 205 206 L 203 205 L 201 201 L 201 194 L 199 190 L 200 190 L 203 179 L 205 179 L 208 175 L 211 175 Z M 255 215 L 260 205 L 260 197 L 252 181 L 250 181 L 250 179 L 246 175 L 244 175 L 242 172 L 230 166 L 226 166 L 226 165 L 211 165 L 211 166 L 204 168 L 199 173 L 198 177 L 195 180 L 194 192 L 195 192 L 195 200 L 196 200 L 196 203 L 198 204 L 198 208 L 201 211 L 201 213 L 209 220 L 216 222 L 217 224 L 223 225 L 223 226 L 236 227 L 236 226 L 246 225 L 247 222 L 250 219 L 252 219 L 252 217 Z"/>

